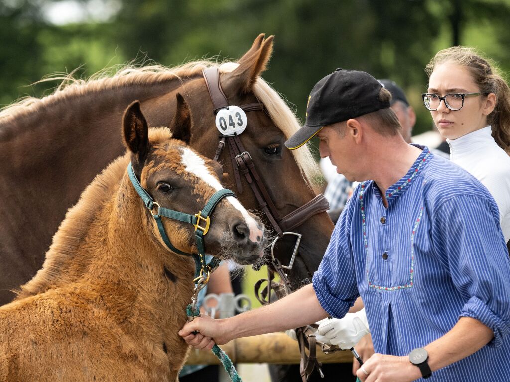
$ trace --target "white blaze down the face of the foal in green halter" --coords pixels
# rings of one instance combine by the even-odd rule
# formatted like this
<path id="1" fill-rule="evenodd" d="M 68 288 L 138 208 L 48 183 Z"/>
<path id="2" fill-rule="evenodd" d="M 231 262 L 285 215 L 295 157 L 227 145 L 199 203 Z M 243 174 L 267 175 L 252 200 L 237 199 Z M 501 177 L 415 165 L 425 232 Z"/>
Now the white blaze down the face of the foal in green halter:
<path id="1" fill-rule="evenodd" d="M 209 172 L 203 159 L 196 155 L 193 150 L 185 147 L 182 149 L 182 153 L 182 164 L 185 166 L 186 171 L 195 174 L 216 191 L 223 189 L 223 186 L 221 186 L 221 183 L 218 181 L 218 179 L 216 179 L 216 177 Z M 260 238 L 263 237 L 262 230 L 257 225 L 257 222 L 248 215 L 248 212 L 244 209 L 244 207 L 241 206 L 239 200 L 233 196 L 227 196 L 225 199 L 227 199 L 231 205 L 235 209 L 239 210 L 239 212 L 241 212 L 243 215 L 244 221 L 250 230 L 249 239 L 252 242 L 260 241 Z M 257 240 L 257 237 L 259 237 L 259 240 Z"/>

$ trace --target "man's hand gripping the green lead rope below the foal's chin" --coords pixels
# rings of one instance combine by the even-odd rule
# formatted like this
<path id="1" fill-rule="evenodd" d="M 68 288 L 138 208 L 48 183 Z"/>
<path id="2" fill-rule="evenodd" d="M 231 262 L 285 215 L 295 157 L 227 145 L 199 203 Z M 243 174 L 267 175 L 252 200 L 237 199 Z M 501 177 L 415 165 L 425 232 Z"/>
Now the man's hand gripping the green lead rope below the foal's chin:
<path id="1" fill-rule="evenodd" d="M 215 343 L 222 345 L 231 340 L 223 333 L 222 322 L 209 316 L 196 317 L 193 321 L 184 324 L 179 335 L 191 346 L 197 349 L 210 350 Z M 194 334 L 194 332 L 197 332 Z"/>

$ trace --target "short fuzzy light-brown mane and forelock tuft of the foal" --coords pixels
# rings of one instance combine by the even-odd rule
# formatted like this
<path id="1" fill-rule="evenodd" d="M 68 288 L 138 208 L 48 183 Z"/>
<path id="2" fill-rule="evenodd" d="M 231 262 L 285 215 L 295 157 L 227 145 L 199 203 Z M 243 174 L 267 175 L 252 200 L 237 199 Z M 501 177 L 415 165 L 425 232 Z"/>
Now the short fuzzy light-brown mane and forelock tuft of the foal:
<path id="1" fill-rule="evenodd" d="M 171 137 L 172 132 L 168 128 L 149 130 L 149 139 L 152 143 Z M 30 282 L 16 291 L 16 299 L 44 292 L 51 286 L 53 280 L 62 274 L 69 259 L 74 256 L 75 248 L 87 234 L 97 211 L 103 208 L 105 201 L 109 200 L 118 188 L 129 162 L 130 154 L 119 157 L 94 178 L 82 193 L 78 203 L 67 211 L 65 219 L 53 237 L 52 245 L 46 252 L 43 267 Z"/>

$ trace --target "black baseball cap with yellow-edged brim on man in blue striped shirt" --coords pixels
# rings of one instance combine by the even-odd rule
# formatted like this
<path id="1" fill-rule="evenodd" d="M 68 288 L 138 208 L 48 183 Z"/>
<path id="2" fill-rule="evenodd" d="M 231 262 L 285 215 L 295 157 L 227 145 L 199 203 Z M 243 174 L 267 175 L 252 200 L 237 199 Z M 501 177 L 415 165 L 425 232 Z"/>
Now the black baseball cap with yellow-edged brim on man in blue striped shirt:
<path id="1" fill-rule="evenodd" d="M 328 124 L 389 108 L 389 101 L 378 99 L 381 87 L 375 78 L 364 71 L 338 68 L 326 75 L 308 97 L 305 124 L 285 142 L 285 146 L 294 150 Z"/>

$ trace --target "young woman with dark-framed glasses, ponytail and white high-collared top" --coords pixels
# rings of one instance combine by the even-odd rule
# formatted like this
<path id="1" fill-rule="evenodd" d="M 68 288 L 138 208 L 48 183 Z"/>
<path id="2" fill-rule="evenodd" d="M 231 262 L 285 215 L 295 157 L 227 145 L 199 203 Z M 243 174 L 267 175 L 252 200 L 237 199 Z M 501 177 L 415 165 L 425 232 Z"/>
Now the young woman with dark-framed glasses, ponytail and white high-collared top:
<path id="1" fill-rule="evenodd" d="M 510 239 L 510 89 L 472 48 L 441 50 L 427 65 L 425 107 L 450 145 L 450 159 L 494 197 Z"/>

